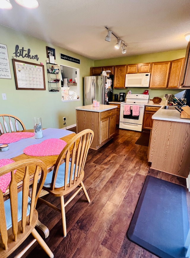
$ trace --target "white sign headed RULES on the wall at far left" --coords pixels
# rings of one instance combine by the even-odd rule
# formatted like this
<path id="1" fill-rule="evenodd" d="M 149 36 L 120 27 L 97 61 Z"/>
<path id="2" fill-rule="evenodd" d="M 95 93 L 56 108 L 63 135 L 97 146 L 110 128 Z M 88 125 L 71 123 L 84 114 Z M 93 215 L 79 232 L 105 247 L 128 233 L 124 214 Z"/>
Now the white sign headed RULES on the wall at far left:
<path id="1" fill-rule="evenodd" d="M 12 79 L 7 45 L 0 43 L 0 78 Z"/>

